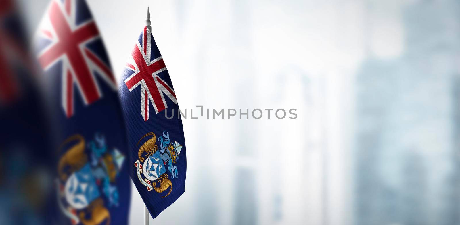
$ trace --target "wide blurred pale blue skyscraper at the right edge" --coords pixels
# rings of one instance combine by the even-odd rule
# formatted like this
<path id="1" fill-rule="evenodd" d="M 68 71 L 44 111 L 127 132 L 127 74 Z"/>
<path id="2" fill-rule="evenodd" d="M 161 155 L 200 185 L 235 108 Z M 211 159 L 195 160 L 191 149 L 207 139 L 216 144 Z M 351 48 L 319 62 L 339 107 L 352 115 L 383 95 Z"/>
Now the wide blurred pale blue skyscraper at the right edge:
<path id="1" fill-rule="evenodd" d="M 459 3 L 414 1 L 402 13 L 403 54 L 370 52 L 357 74 L 355 221 L 455 225 Z"/>

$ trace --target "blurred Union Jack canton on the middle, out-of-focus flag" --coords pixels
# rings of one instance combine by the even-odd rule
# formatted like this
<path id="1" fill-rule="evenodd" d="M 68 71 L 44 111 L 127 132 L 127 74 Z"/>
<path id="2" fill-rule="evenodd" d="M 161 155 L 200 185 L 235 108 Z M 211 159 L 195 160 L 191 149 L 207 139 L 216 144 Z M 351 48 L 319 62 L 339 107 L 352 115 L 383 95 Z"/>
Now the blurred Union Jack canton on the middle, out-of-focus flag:
<path id="1" fill-rule="evenodd" d="M 98 28 L 84 0 L 52 0 L 38 30 L 38 60 L 46 75 L 61 76 L 61 104 L 74 115 L 74 87 L 85 105 L 102 97 L 98 78 L 116 90 Z M 55 75 L 55 74 L 53 74 Z"/>

